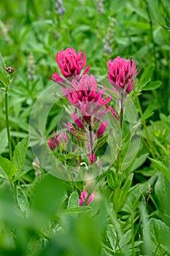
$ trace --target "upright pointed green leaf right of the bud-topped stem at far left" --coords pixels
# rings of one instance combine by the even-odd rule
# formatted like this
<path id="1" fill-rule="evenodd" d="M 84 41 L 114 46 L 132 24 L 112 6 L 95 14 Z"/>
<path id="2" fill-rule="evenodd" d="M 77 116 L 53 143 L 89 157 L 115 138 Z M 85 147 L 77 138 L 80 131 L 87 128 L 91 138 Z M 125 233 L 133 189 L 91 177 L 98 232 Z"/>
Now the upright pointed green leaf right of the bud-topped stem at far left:
<path id="1" fill-rule="evenodd" d="M 20 175 L 23 164 L 26 159 L 26 151 L 28 148 L 28 137 L 23 138 L 18 145 L 15 147 L 14 156 L 13 156 L 13 163 L 16 167 L 16 175 Z"/>

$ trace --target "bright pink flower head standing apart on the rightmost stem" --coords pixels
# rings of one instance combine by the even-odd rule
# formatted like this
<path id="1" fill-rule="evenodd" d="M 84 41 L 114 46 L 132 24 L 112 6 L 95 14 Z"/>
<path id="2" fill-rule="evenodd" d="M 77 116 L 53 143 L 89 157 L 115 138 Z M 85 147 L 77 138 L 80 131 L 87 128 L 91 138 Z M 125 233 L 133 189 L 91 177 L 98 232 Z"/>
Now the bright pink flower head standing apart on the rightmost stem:
<path id="1" fill-rule="evenodd" d="M 127 94 L 134 90 L 136 75 L 139 70 L 136 69 L 134 60 L 121 59 L 120 56 L 113 60 L 109 60 L 108 67 L 108 80 L 115 86 L 116 89 L 123 89 Z"/>

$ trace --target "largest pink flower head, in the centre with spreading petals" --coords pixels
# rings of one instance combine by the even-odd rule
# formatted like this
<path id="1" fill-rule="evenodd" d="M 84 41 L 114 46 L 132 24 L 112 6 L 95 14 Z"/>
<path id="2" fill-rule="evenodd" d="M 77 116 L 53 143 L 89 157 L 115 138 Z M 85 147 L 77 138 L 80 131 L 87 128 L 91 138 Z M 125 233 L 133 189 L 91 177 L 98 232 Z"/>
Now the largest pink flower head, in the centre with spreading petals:
<path id="1" fill-rule="evenodd" d="M 104 96 L 104 89 L 98 89 L 93 75 L 82 75 L 79 81 L 72 80 L 72 89 L 66 88 L 62 91 L 69 102 L 80 110 L 82 121 L 88 125 L 94 120 L 98 123 L 112 108 L 107 107 L 111 97 Z M 77 121 L 77 126 L 80 127 L 80 120 Z"/>

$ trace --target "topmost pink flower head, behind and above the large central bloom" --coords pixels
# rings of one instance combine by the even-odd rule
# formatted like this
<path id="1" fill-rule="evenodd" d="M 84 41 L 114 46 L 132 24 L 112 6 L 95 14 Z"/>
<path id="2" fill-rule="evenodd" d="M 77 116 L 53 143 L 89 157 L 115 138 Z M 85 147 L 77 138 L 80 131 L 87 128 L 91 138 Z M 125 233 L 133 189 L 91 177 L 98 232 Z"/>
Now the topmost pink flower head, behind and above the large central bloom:
<path id="1" fill-rule="evenodd" d="M 85 52 L 82 51 L 76 53 L 74 48 L 67 48 L 65 51 L 60 50 L 56 54 L 55 59 L 64 78 L 70 78 L 73 76 L 80 78 L 80 73 L 86 65 Z M 86 67 L 83 74 L 88 74 L 89 69 L 90 66 Z M 58 72 L 54 72 L 53 77 L 50 77 L 50 79 L 57 83 L 63 80 Z"/>

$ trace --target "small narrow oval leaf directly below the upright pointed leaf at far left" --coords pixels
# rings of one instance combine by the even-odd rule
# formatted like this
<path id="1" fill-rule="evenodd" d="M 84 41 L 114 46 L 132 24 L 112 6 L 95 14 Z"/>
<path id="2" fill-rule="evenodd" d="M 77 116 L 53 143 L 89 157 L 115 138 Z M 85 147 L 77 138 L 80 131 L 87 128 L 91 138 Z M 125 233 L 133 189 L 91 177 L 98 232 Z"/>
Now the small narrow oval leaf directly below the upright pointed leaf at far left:
<path id="1" fill-rule="evenodd" d="M 17 188 L 17 200 L 18 200 L 18 206 L 20 207 L 20 210 L 26 213 L 26 217 L 28 217 L 28 213 L 30 211 L 28 199 L 23 192 L 23 189 L 21 187 Z"/>

